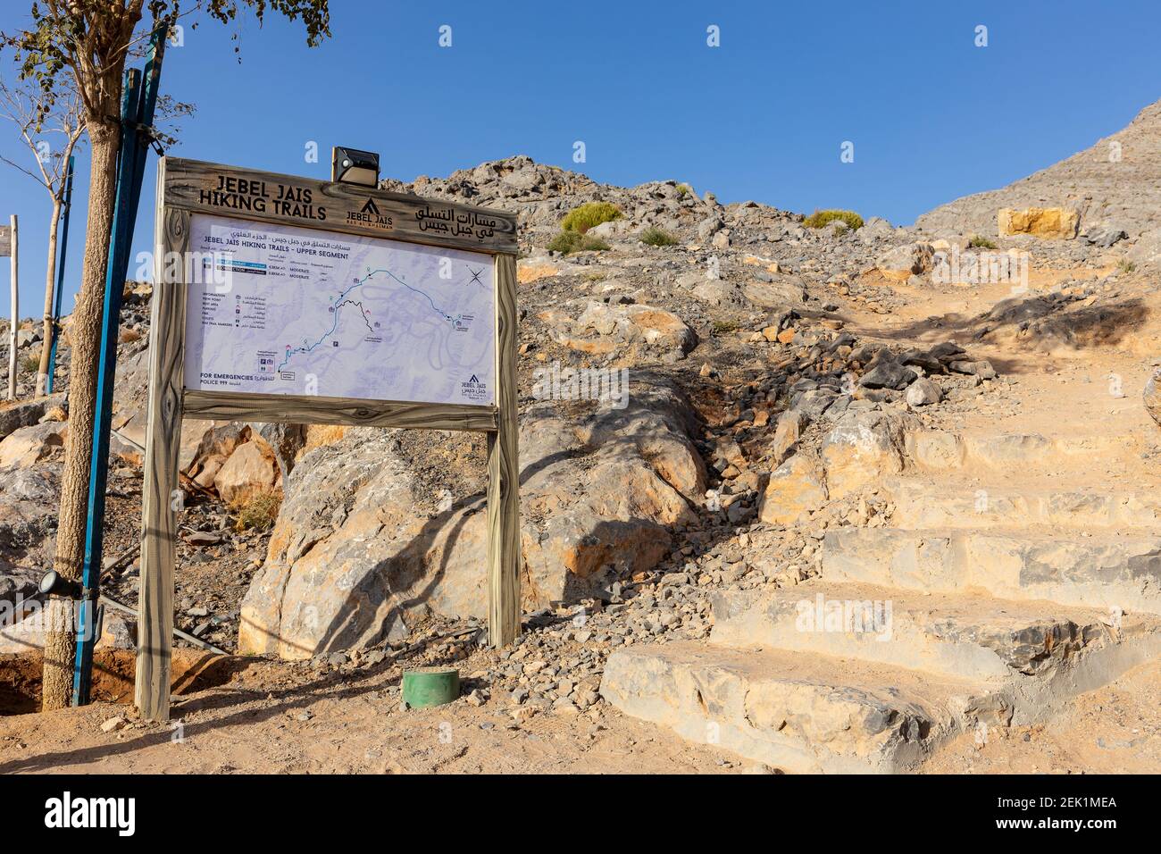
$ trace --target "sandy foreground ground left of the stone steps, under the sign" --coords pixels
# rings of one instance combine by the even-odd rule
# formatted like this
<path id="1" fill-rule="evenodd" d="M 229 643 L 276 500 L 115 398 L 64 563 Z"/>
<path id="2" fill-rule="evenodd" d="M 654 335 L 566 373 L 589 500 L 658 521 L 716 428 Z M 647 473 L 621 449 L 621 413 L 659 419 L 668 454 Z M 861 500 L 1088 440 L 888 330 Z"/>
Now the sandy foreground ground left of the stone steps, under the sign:
<path id="1" fill-rule="evenodd" d="M 486 655 L 488 653 L 479 653 Z M 517 724 L 506 701 L 466 697 L 402 710 L 398 666 L 356 676 L 235 660 L 229 683 L 181 696 L 168 725 L 101 725 L 130 709 L 96 703 L 0 718 L 0 773 L 55 774 L 714 774 L 753 763 L 693 745 L 605 704 Z M 479 662 L 482 663 L 482 662 Z M 470 673 L 473 661 L 461 662 Z"/>

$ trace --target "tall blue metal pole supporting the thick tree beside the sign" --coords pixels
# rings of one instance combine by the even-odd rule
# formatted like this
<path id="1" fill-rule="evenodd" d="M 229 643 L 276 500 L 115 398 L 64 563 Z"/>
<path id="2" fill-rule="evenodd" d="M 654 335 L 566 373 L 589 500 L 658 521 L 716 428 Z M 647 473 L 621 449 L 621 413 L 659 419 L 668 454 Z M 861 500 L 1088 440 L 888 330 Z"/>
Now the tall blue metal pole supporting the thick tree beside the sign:
<path id="1" fill-rule="evenodd" d="M 96 379 L 96 418 L 93 422 L 93 459 L 88 479 L 88 519 L 85 526 L 84 593 L 80 602 L 77 660 L 73 667 L 73 705 L 89 699 L 93 676 L 93 646 L 96 644 L 95 616 L 100 596 L 101 555 L 104 547 L 104 490 L 109 474 L 109 431 L 113 426 L 113 385 L 117 369 L 117 336 L 121 326 L 121 300 L 129 272 L 134 223 L 140 201 L 145 159 L 149 153 L 147 129 L 157 108 L 161 59 L 165 55 L 167 27 L 153 30 L 145 62 L 144 87 L 138 88 L 138 73 L 129 72 L 125 102 L 122 109 L 121 156 L 117 164 L 117 202 L 113 217 L 113 244 L 104 279 L 104 307 L 101 322 L 101 361 Z"/>

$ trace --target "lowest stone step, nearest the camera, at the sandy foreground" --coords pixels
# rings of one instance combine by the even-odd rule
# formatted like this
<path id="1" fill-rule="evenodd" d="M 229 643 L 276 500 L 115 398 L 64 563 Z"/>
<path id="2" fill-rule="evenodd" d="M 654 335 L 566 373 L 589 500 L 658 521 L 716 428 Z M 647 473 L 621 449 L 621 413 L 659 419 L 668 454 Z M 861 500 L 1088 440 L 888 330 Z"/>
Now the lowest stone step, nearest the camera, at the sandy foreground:
<path id="1" fill-rule="evenodd" d="M 913 770 L 973 720 L 1002 717 L 968 705 L 965 681 L 692 643 L 619 650 L 600 692 L 691 741 L 803 774 Z"/>

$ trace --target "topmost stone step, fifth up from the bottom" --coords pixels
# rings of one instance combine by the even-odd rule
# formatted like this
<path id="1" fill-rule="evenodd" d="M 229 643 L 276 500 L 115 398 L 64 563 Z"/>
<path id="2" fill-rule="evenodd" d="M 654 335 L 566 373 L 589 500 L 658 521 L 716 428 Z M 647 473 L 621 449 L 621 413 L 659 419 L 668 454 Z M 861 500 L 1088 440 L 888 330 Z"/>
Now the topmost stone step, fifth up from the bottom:
<path id="1" fill-rule="evenodd" d="M 1086 466 L 1094 454 L 1125 450 L 1116 436 L 1068 435 L 1047 437 L 1036 432 L 954 433 L 913 430 L 904 437 L 910 460 L 921 471 L 945 472 L 982 466 L 1007 469 Z"/>

